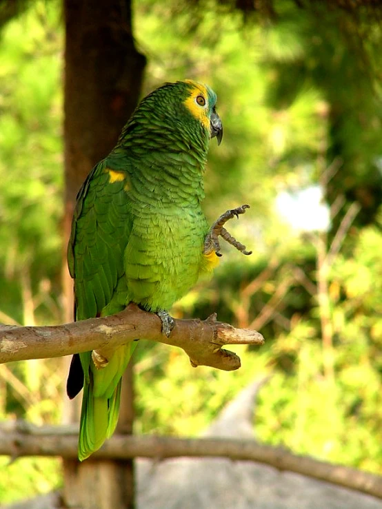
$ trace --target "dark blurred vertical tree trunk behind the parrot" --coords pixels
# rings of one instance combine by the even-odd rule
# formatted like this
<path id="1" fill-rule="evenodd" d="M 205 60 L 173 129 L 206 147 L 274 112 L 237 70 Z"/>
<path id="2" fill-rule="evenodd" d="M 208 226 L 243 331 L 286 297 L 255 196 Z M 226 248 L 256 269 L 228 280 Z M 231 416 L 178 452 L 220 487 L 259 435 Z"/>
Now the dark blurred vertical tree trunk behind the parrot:
<path id="1" fill-rule="evenodd" d="M 130 0 L 64 0 L 65 249 L 77 192 L 95 163 L 114 147 L 137 105 L 145 57 L 134 47 Z M 66 260 L 66 256 L 64 257 Z M 63 264 L 66 322 L 72 321 L 73 284 Z M 123 380 L 119 431 L 132 432 L 132 373 Z M 80 402 L 81 397 L 77 397 Z M 74 400 L 76 401 L 76 400 Z M 77 404 L 78 408 L 78 404 Z M 77 415 L 76 415 L 77 414 Z M 66 404 L 66 422 L 78 420 Z M 66 507 L 134 507 L 132 461 L 64 461 Z"/>

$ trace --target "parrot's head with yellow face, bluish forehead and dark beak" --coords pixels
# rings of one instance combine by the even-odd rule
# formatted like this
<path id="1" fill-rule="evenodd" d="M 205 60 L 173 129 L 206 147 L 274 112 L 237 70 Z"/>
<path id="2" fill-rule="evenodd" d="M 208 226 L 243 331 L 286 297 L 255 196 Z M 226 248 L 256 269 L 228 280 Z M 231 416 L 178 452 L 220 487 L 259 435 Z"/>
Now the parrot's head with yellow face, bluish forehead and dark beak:
<path id="1" fill-rule="evenodd" d="M 216 103 L 217 94 L 208 85 L 192 80 L 165 83 L 142 99 L 128 127 L 144 123 L 153 133 L 170 130 L 203 142 L 216 137 L 220 145 L 223 125 Z"/>

